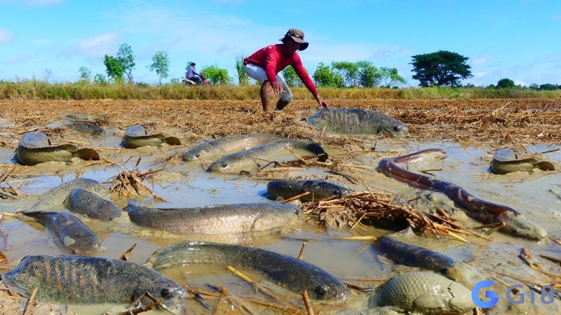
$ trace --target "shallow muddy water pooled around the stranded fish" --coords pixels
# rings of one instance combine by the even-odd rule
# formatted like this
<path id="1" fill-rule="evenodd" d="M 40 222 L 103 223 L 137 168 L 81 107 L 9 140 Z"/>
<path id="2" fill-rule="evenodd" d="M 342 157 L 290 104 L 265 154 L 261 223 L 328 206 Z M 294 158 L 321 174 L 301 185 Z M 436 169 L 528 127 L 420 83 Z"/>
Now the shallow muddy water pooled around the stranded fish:
<path id="1" fill-rule="evenodd" d="M 5 127 L 4 130 L 9 126 Z M 181 161 L 180 153 L 184 152 L 194 143 L 186 143 L 179 147 L 163 145 L 161 148 L 144 147 L 129 150 L 120 146 L 123 131 L 119 129 L 108 130 L 105 137 L 83 137 L 76 135 L 76 138 L 83 141 L 83 146 L 96 148 L 100 155 L 114 164 L 91 164 L 90 162 L 75 161 L 69 164 L 50 162 L 36 165 L 34 167 L 18 166 L 13 176 L 8 177 L 0 187 L 7 185 L 18 186 L 20 195 L 17 200 L 1 199 L 0 211 L 15 213 L 28 209 L 36 202 L 41 193 L 45 193 L 50 188 L 76 179 L 84 177 L 96 179 L 97 181 L 107 182 L 111 177 L 119 174 L 123 170 L 135 170 L 140 172 L 149 169 L 163 169 L 144 181 L 144 183 L 165 202 L 158 200 L 145 190 L 140 190 L 140 196 L 135 196 L 147 207 L 198 207 L 210 204 L 229 204 L 237 202 L 258 202 L 266 199 L 266 183 L 268 179 L 280 179 L 283 177 L 302 177 L 302 178 L 322 178 L 329 176 L 333 181 L 347 186 L 353 190 L 365 190 L 362 183 L 350 183 L 342 176 L 334 176 L 326 172 L 326 169 L 308 167 L 290 174 L 274 172 L 259 176 L 245 176 L 240 174 L 214 174 L 205 172 L 204 162 L 194 162 L 186 164 Z M 81 138 L 80 138 L 81 137 Z M 445 160 L 427 159 L 414 165 L 409 165 L 414 172 L 431 170 L 438 179 L 457 183 L 465 188 L 469 193 L 499 204 L 506 204 L 525 214 L 535 223 L 538 223 L 548 232 L 551 237 L 561 237 L 561 176 L 558 171 L 543 172 L 537 170 L 533 173 L 513 173 L 506 175 L 493 175 L 489 173 L 489 162 L 492 159 L 494 148 L 462 147 L 457 143 L 423 143 L 411 144 L 405 140 L 383 139 L 376 143 L 372 140 L 365 140 L 368 143 L 365 147 L 374 147 L 374 151 L 353 153 L 342 153 L 339 148 L 325 145 L 326 150 L 334 158 L 342 160 L 346 165 L 344 172 L 351 174 L 354 178 L 360 178 L 371 190 L 385 191 L 396 194 L 399 200 L 414 200 L 419 190 L 407 187 L 403 183 L 398 183 L 393 179 L 388 179 L 383 174 L 377 172 L 377 163 L 381 158 L 391 157 L 406 153 L 412 153 L 424 148 L 442 148 L 447 152 Z M 527 146 L 529 153 L 540 153 L 551 151 L 558 146 Z M 0 147 L 0 172 L 6 171 L 12 165 L 13 148 L 9 146 Z M 170 157 L 177 154 L 177 158 L 163 162 L 161 158 Z M 557 167 L 561 165 L 561 153 L 555 151 L 545 153 L 543 158 L 553 162 Z M 140 159 L 140 160 L 139 160 Z M 292 155 L 276 157 L 276 160 L 294 160 Z M 108 184 L 109 185 L 109 184 Z M 126 197 L 111 195 L 111 200 L 120 207 L 126 205 Z M 453 207 L 447 197 L 440 194 L 432 194 L 433 201 L 426 203 L 420 202 L 418 207 Z M 427 206 L 428 204 L 428 206 Z M 62 204 L 60 210 L 63 210 Z M 480 225 L 475 223 L 457 211 L 458 222 L 465 226 Z M 186 239 L 201 239 L 222 241 L 234 244 L 259 246 L 271 251 L 297 256 L 302 248 L 303 240 L 306 245 L 302 259 L 311 262 L 319 267 L 341 277 L 344 281 L 358 286 L 378 286 L 381 281 L 398 272 L 414 270 L 414 268 L 391 265 L 379 255 L 376 246 L 365 241 L 348 241 L 333 239 L 333 236 L 352 236 L 352 235 L 386 235 L 392 230 L 380 230 L 367 226 L 358 226 L 353 231 L 324 230 L 304 221 L 294 226 L 287 227 L 285 230 L 258 235 L 222 235 L 208 237 L 201 235 L 173 235 L 167 232 L 147 230 L 139 228 L 128 221 L 128 216 L 116 218 L 109 223 L 83 218 L 88 225 L 103 241 L 103 246 L 107 249 L 98 256 L 107 258 L 119 258 L 130 246 L 136 244 L 130 253 L 130 260 L 144 263 L 149 255 L 160 246 L 172 244 L 176 241 Z M 1 233 L 4 236 L 0 239 L 0 250 L 11 265 L 29 254 L 50 254 L 62 255 L 64 251 L 54 241 L 48 231 L 39 223 L 32 220 L 4 216 L 4 221 L 0 223 Z M 529 269 L 527 265 L 518 258 L 521 248 L 529 248 L 536 261 L 543 270 L 551 274 L 560 274 L 559 266 L 540 258 L 540 254 L 561 257 L 561 246 L 549 241 L 548 239 L 534 242 L 523 239 L 515 239 L 501 233 L 494 233 L 489 236 L 490 241 L 478 237 L 468 237 L 468 242 L 453 239 L 437 239 L 435 237 L 407 237 L 407 242 L 426 248 L 440 251 L 452 258 L 468 261 L 474 268 L 480 270 L 485 279 L 493 279 L 492 276 L 503 279 L 506 283 L 522 283 L 527 280 L 532 283 L 549 283 L 559 281 L 557 278 L 549 278 L 541 272 Z M 11 266 L 7 266 L 11 267 Z M 208 288 L 207 283 L 215 284 L 217 281 L 222 283 L 239 295 L 255 295 L 249 286 L 238 279 L 236 276 L 224 271 L 220 266 L 186 266 L 184 268 L 172 268 L 163 271 L 164 274 L 172 277 L 179 283 L 189 284 Z M 504 276 L 510 274 L 513 277 Z M 255 279 L 259 279 L 257 275 Z M 496 286 L 495 290 L 501 292 L 506 290 L 504 286 Z M 299 302 L 299 296 L 293 296 L 284 290 L 276 291 L 279 295 L 291 298 L 295 303 Z M 525 289 L 527 297 L 530 293 Z M 536 299 L 539 300 L 539 299 Z M 17 308 L 25 305 L 25 301 L 10 302 L 8 297 L 1 298 L 4 309 L 10 307 Z M 209 298 L 209 304 L 214 305 L 217 300 Z M 11 304 L 12 303 L 12 304 Z M 15 304 L 14 304 L 15 303 Z M 208 314 L 200 304 L 189 301 L 187 306 L 191 312 L 189 314 Z M 227 306 L 221 306 L 224 311 Z M 259 314 L 263 312 L 271 313 L 270 308 L 259 309 L 254 307 L 254 311 Z M 378 314 L 384 309 L 367 309 L 367 295 L 364 293 L 353 292 L 351 299 L 339 305 L 315 304 L 317 310 L 324 311 L 324 314 L 357 314 L 362 311 L 365 314 Z M 116 314 L 122 306 L 70 306 L 58 307 L 50 304 L 39 304 L 36 306 L 37 313 L 79 313 L 79 314 L 99 314 L 107 311 Z M 517 314 L 519 311 L 530 311 L 534 314 L 553 314 L 561 311 L 560 301 L 555 300 L 553 304 L 511 304 L 505 298 L 494 307 L 490 314 Z M 151 311 L 157 314 L 158 311 Z"/>

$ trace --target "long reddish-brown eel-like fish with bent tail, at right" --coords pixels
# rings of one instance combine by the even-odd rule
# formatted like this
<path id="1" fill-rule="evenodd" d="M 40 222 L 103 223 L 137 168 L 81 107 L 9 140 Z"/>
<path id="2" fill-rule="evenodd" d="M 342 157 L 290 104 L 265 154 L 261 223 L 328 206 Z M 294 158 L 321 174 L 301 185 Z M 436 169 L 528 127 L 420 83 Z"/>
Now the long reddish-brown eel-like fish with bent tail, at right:
<path id="1" fill-rule="evenodd" d="M 501 228 L 502 232 L 534 241 L 539 241 L 548 236 L 546 230 L 543 230 L 539 225 L 511 207 L 481 200 L 454 183 L 415 174 L 395 164 L 415 162 L 423 155 L 431 153 L 446 154 L 445 151 L 438 148 L 426 149 L 408 155 L 381 159 L 378 168 L 382 174 L 389 178 L 407 183 L 414 188 L 433 190 L 445 194 L 457 207 L 464 209 L 466 215 L 473 220 L 485 224 L 505 223 L 505 226 Z"/>

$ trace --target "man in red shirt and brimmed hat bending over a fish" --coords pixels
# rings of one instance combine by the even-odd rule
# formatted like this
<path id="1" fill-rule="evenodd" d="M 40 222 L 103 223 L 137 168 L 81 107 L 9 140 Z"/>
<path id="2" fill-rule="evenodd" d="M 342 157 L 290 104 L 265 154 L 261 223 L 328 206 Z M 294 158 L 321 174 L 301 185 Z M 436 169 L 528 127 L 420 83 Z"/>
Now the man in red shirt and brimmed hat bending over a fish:
<path id="1" fill-rule="evenodd" d="M 248 73 L 250 78 L 261 82 L 259 96 L 261 97 L 263 111 L 269 111 L 271 88 L 275 94 L 280 94 L 280 99 L 276 103 L 278 111 L 284 109 L 292 101 L 293 95 L 290 88 L 286 85 L 285 80 L 278 75 L 287 66 L 292 66 L 319 106 L 327 107 L 327 103 L 321 99 L 316 85 L 313 84 L 302 65 L 300 56 L 297 54 L 297 50 L 305 50 L 309 45 L 308 42 L 304 41 L 304 32 L 299 29 L 289 29 L 279 41 L 283 43 L 266 46 L 243 59 L 245 73 Z"/>

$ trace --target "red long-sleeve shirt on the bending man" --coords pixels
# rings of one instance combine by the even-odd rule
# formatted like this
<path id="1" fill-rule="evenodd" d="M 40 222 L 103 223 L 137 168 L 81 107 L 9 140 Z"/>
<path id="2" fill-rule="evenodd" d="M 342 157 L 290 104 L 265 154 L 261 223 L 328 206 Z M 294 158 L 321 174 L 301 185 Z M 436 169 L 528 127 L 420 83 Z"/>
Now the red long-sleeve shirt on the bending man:
<path id="1" fill-rule="evenodd" d="M 318 98 L 318 90 L 316 85 L 313 84 L 310 76 L 302 65 L 302 59 L 295 52 L 293 55 L 286 55 L 283 44 L 269 45 L 261 48 L 243 59 L 243 65 L 255 64 L 265 69 L 267 79 L 270 83 L 276 82 L 276 73 L 283 71 L 287 66 L 292 66 L 297 76 L 306 85 L 313 97 Z"/>

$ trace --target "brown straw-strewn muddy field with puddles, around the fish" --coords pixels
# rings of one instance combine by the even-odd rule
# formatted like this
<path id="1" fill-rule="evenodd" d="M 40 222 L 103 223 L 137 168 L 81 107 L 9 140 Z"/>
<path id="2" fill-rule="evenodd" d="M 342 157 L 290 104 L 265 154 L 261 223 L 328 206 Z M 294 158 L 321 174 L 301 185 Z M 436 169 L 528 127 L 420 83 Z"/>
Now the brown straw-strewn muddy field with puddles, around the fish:
<path id="1" fill-rule="evenodd" d="M 469 99 L 469 100 L 328 100 L 330 106 L 376 109 L 402 121 L 409 127 L 403 139 L 364 139 L 358 137 L 325 137 L 306 125 L 302 118 L 313 115 L 313 101 L 292 102 L 285 111 L 263 113 L 258 101 L 31 101 L 0 100 L 0 251 L 6 257 L 0 267 L 9 269 L 24 255 L 60 255 L 62 251 L 55 239 L 39 223 L 13 216 L 27 210 L 41 193 L 77 177 L 104 182 L 109 188 L 113 176 L 127 172 L 154 172 L 143 179 L 151 190 L 130 189 L 132 197 L 142 200 L 146 207 L 201 207 L 210 204 L 266 201 L 266 184 L 272 179 L 327 179 L 352 190 L 375 190 L 395 195 L 395 200 L 412 200 L 419 209 L 442 207 L 454 209 L 454 219 L 466 228 L 480 225 L 466 218 L 442 194 L 417 199 L 419 190 L 388 179 L 377 171 L 381 158 L 412 153 L 424 148 L 442 148 L 447 151 L 445 160 L 427 160 L 410 165 L 412 172 L 428 172 L 438 179 L 457 183 L 472 195 L 484 200 L 506 204 L 520 211 L 548 232 L 543 241 L 527 241 L 495 232 L 488 239 L 461 235 L 468 242 L 452 238 L 435 238 L 431 235 L 408 238 L 407 242 L 449 255 L 454 260 L 468 262 L 487 275 L 504 283 L 560 283 L 555 274 L 561 267 L 541 255 L 561 257 L 561 245 L 551 239 L 561 238 L 561 176 L 559 171 L 513 172 L 494 175 L 489 165 L 497 148 L 506 146 L 538 155 L 559 169 L 561 165 L 561 101 L 555 99 Z M 65 127 L 67 115 L 91 115 L 106 134 L 89 136 Z M 121 141 L 126 127 L 142 125 L 149 133 L 162 133 L 181 140 L 180 146 L 162 144 L 136 149 L 123 148 Z M 74 162 L 48 162 L 35 166 L 13 167 L 15 148 L 22 134 L 29 131 L 45 132 L 61 143 L 94 148 L 101 161 L 74 160 Z M 212 174 L 205 172 L 203 162 L 184 162 L 184 153 L 203 140 L 232 134 L 266 132 L 283 137 L 311 139 L 326 149 L 330 160 L 337 161 L 339 169 L 327 167 L 292 168 L 291 172 L 259 174 Z M 540 154 L 541 153 L 541 154 Z M 278 161 L 297 160 L 290 153 Z M 349 181 L 349 179 L 356 181 Z M 421 194 L 422 195 L 422 194 Z M 124 207 L 128 197 L 112 193 L 108 198 Z M 165 201 L 163 201 L 165 200 Z M 62 201 L 61 201 L 62 202 Z M 64 209 L 64 208 L 62 208 Z M 61 209 L 61 210 L 62 210 Z M 81 218 L 93 230 L 106 251 L 95 255 L 119 258 L 133 244 L 129 255 L 134 262 L 144 263 L 149 255 L 161 246 L 177 241 L 194 239 L 222 241 L 231 244 L 257 246 L 296 257 L 306 246 L 302 259 L 318 265 L 327 272 L 357 286 L 379 286 L 389 277 L 412 267 L 391 265 L 369 241 L 335 239 L 339 236 L 372 235 L 379 237 L 395 232 L 391 229 L 356 225 L 353 230 L 325 229 L 302 221 L 274 234 L 222 235 L 209 239 L 204 235 L 173 235 L 168 232 L 143 229 L 130 223 L 127 216 L 111 222 Z M 520 250 L 532 253 L 532 262 L 538 269 L 530 268 L 519 258 Z M 235 266 L 234 266 L 235 267 Z M 540 272 L 541 269 L 543 272 Z M 227 270 L 212 266 L 187 266 L 165 270 L 165 275 L 181 284 L 208 288 L 206 283 L 217 281 L 238 295 L 255 297 L 250 286 Z M 253 275 L 255 276 L 255 275 Z M 256 278 L 256 280 L 259 280 Z M 527 282 L 524 282 L 527 281 Z M 494 290 L 501 300 L 486 314 L 558 314 L 560 300 L 553 304 L 511 304 L 506 301 L 506 286 L 495 283 Z M 293 303 L 304 309 L 302 297 L 293 297 L 278 290 Z M 524 287 L 527 301 L 529 288 Z M 322 314 L 377 314 L 368 309 L 367 295 L 353 292 L 344 304 L 312 304 Z M 224 302 L 205 297 L 211 307 L 227 312 Z M 0 307 L 4 313 L 22 313 L 27 300 L 18 295 L 0 291 Z M 255 313 L 268 313 L 270 307 L 250 304 Z M 58 306 L 33 303 L 34 314 L 100 314 L 109 310 L 116 314 L 123 306 Z M 189 314 L 205 314 L 201 304 L 190 300 Z M 151 311 L 155 314 L 157 311 Z"/>

